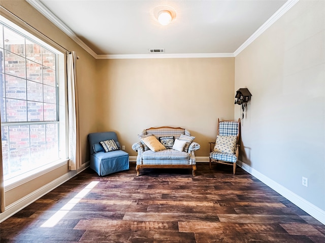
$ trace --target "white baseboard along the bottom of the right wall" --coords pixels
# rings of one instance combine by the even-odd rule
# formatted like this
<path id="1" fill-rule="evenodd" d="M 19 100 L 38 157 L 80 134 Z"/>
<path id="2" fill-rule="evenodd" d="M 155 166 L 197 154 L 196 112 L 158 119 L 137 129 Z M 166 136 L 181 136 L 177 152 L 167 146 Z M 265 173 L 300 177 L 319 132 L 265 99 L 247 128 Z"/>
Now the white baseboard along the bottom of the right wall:
<path id="1" fill-rule="evenodd" d="M 248 172 L 252 176 L 256 177 L 258 180 L 262 181 L 267 186 L 271 187 L 273 190 L 284 196 L 286 199 L 291 201 L 291 203 L 295 204 L 296 206 L 304 210 L 306 213 L 310 214 L 322 224 L 325 224 L 325 211 L 309 203 L 309 201 L 307 201 L 306 199 L 288 190 L 284 186 L 278 184 L 277 182 L 273 181 L 262 173 L 256 171 L 255 169 L 251 168 L 249 165 L 243 163 L 242 161 L 238 161 L 237 164 L 244 171 Z"/>

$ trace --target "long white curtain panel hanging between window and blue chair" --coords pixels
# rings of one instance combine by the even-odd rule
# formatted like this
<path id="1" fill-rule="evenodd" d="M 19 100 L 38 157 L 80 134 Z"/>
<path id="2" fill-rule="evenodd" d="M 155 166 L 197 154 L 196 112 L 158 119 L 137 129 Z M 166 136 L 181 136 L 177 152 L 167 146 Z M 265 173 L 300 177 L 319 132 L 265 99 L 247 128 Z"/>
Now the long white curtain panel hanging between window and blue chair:
<path id="1" fill-rule="evenodd" d="M 78 85 L 76 79 L 76 52 L 67 52 L 68 117 L 69 117 L 69 170 L 81 165 L 79 138 Z"/>

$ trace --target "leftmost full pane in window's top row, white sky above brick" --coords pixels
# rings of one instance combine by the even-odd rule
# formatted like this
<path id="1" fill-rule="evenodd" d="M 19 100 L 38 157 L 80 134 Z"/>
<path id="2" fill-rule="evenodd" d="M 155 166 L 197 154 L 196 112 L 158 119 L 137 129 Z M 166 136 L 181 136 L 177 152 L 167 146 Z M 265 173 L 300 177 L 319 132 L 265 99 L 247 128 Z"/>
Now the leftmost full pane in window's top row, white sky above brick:
<path id="1" fill-rule="evenodd" d="M 25 57 L 25 37 L 4 27 L 5 49 Z"/>

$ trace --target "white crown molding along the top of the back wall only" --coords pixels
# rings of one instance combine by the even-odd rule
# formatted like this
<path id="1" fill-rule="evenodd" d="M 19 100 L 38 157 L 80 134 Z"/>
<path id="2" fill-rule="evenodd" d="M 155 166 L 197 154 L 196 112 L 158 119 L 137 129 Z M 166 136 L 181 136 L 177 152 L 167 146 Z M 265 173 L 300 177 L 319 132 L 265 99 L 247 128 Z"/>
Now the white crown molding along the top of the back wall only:
<path id="1" fill-rule="evenodd" d="M 97 59 L 145 59 L 145 58 L 214 58 L 235 57 L 233 53 L 184 53 L 184 54 L 123 54 L 123 55 L 97 55 Z"/>

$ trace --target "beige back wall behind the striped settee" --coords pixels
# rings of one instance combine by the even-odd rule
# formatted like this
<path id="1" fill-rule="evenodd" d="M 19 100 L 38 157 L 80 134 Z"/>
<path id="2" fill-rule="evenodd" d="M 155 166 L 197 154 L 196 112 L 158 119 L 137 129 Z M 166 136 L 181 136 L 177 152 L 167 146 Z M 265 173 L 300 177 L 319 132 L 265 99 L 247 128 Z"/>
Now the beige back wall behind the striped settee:
<path id="1" fill-rule="evenodd" d="M 98 130 L 116 131 L 126 152 L 150 127 L 186 128 L 209 155 L 216 121 L 234 118 L 234 58 L 97 60 Z"/>

